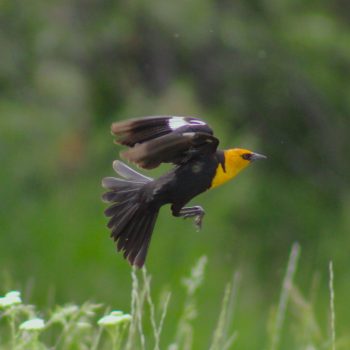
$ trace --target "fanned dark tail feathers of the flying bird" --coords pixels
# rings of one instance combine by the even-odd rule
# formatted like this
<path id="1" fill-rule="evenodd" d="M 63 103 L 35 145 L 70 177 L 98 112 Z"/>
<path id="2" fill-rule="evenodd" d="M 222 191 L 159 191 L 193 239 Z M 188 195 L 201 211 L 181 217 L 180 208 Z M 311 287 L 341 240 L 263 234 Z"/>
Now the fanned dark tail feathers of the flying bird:
<path id="1" fill-rule="evenodd" d="M 153 179 L 120 161 L 115 161 L 113 168 L 124 179 L 106 177 L 102 180 L 102 186 L 108 190 L 102 199 L 112 203 L 105 210 L 105 215 L 110 217 L 107 226 L 111 229 L 117 250 L 124 252 L 124 258 L 131 265 L 141 268 L 159 212 L 158 207 L 143 199 L 143 187 Z"/>

